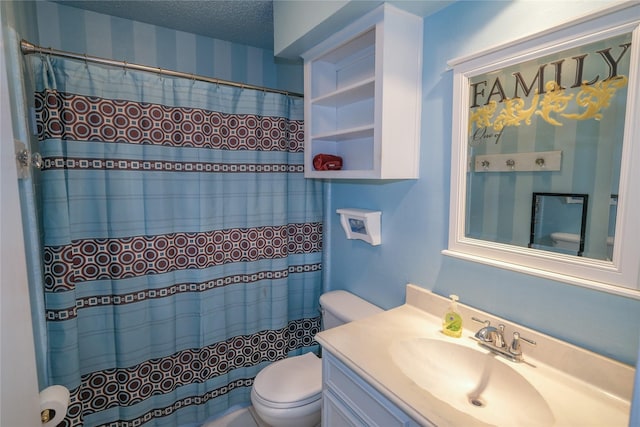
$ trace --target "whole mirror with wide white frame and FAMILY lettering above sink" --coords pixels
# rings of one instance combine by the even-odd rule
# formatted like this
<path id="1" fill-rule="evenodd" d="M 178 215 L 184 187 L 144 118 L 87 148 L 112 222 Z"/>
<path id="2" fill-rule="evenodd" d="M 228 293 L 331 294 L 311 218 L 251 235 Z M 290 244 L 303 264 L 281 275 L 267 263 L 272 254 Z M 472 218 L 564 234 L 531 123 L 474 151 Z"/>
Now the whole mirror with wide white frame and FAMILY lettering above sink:
<path id="1" fill-rule="evenodd" d="M 640 298 L 640 43 L 621 9 L 450 62 L 445 254 Z"/>

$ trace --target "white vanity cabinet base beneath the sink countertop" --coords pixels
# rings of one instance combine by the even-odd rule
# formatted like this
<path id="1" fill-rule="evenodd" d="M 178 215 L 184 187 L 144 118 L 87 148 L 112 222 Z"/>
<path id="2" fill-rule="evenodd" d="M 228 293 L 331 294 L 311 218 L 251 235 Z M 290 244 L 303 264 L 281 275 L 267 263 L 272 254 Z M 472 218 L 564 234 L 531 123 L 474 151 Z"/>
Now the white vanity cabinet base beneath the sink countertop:
<path id="1" fill-rule="evenodd" d="M 328 351 L 322 355 L 322 384 L 323 427 L 418 426 Z"/>

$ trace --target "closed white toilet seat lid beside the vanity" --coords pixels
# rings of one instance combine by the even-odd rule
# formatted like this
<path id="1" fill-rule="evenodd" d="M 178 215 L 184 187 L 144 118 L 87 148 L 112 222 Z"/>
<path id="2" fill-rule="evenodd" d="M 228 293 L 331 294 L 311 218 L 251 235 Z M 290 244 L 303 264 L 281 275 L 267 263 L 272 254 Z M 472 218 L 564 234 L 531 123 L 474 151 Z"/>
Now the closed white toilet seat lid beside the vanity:
<path id="1" fill-rule="evenodd" d="M 259 404 L 273 409 L 318 401 L 322 395 L 322 360 L 306 353 L 272 363 L 256 375 L 252 394 Z"/>

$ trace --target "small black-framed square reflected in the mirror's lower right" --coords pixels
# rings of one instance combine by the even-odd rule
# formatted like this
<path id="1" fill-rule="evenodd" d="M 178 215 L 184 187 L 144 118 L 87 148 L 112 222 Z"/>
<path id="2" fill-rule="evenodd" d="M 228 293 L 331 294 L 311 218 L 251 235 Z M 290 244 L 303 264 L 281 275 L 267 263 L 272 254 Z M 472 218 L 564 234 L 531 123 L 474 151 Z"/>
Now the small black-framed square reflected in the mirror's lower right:
<path id="1" fill-rule="evenodd" d="M 529 247 L 582 256 L 587 194 L 533 193 Z"/>

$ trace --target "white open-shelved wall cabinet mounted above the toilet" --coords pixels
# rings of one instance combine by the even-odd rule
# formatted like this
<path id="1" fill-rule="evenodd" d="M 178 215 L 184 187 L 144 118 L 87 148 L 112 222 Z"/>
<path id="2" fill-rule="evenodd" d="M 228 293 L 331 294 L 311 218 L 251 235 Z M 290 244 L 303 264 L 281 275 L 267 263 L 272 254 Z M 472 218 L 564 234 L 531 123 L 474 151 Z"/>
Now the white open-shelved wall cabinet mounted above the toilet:
<path id="1" fill-rule="evenodd" d="M 422 18 L 384 4 L 302 57 L 305 177 L 418 178 Z M 342 169 L 316 170 L 317 154 Z"/>

